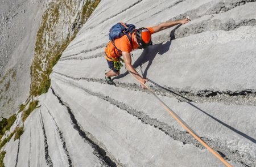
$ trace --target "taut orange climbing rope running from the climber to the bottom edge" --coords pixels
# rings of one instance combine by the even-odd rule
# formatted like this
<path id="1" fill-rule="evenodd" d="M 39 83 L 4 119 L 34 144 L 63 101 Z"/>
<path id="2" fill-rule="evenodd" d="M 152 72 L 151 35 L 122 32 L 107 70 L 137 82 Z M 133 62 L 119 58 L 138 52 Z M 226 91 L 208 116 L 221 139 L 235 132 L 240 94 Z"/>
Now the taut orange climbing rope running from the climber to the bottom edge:
<path id="1" fill-rule="evenodd" d="M 127 70 L 129 71 L 129 70 Z M 129 71 L 130 74 L 136 79 L 138 80 L 134 75 L 134 72 Z M 218 160 L 220 160 L 224 165 L 228 166 L 228 167 L 232 167 L 232 165 L 229 164 L 228 161 L 226 161 L 222 156 L 220 156 L 216 151 L 214 151 L 214 149 L 212 149 L 207 143 L 204 142 L 203 139 L 200 138 L 199 135 L 196 134 L 195 131 L 193 131 L 191 129 L 191 127 L 189 127 L 187 125 L 187 123 L 185 123 L 175 112 L 173 112 L 158 96 L 155 95 L 155 93 L 152 91 L 152 89 L 150 89 L 146 84 L 142 83 L 140 80 L 138 80 L 138 82 L 140 82 L 144 87 L 146 87 L 148 89 L 148 91 L 150 91 L 150 93 L 152 95 L 154 95 L 156 97 L 156 99 L 158 99 L 160 101 L 160 104 L 163 105 L 163 107 L 172 115 L 172 117 L 174 117 L 174 119 L 185 129 L 189 132 L 189 134 L 191 134 L 198 142 L 200 142 L 202 145 L 204 145 L 205 148 L 207 148 L 210 153 L 212 153 L 214 156 L 217 157 Z"/>

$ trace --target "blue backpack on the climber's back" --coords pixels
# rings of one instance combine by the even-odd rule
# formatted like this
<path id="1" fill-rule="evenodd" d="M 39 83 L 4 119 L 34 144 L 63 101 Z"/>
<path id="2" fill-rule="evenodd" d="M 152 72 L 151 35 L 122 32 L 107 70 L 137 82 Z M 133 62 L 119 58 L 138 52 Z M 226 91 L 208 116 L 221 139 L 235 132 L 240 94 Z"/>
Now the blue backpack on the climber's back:
<path id="1" fill-rule="evenodd" d="M 117 38 L 121 38 L 122 36 L 126 35 L 131 43 L 131 48 L 133 48 L 133 41 L 131 40 L 131 36 L 129 35 L 129 33 L 132 33 L 133 31 L 135 31 L 135 25 L 134 24 L 126 24 L 126 23 L 117 23 L 115 25 L 113 25 L 112 28 L 110 28 L 109 30 L 109 40 L 112 41 L 113 45 L 114 45 L 114 40 Z M 114 45 L 115 47 L 115 45 Z M 115 47 L 115 49 L 117 49 L 117 47 Z M 119 52 L 121 52 L 121 50 L 117 49 Z"/>

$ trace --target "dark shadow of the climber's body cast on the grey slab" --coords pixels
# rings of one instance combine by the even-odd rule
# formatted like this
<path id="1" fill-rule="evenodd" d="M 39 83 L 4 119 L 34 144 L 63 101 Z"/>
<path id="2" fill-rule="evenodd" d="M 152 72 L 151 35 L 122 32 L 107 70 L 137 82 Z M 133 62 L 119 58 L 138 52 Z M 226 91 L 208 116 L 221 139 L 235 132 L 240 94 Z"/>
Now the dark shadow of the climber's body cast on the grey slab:
<path id="1" fill-rule="evenodd" d="M 156 45 L 152 45 L 150 47 L 148 47 L 147 49 L 144 49 L 141 56 L 139 56 L 139 58 L 134 62 L 133 67 L 134 68 L 138 68 L 138 67 L 142 67 L 142 65 L 146 62 L 148 62 L 144 72 L 142 71 L 143 74 L 143 78 L 147 77 L 147 71 L 150 68 L 150 66 L 152 65 L 153 60 L 155 59 L 156 55 L 163 55 L 164 53 L 166 53 L 171 46 L 171 42 L 172 40 L 175 39 L 175 30 L 177 28 L 179 28 L 181 26 L 177 25 L 174 29 L 172 29 L 171 33 L 170 33 L 170 41 L 167 41 L 166 43 L 160 43 L 160 44 L 156 44 Z M 119 79 L 119 78 L 123 78 L 124 76 L 128 75 L 129 72 L 126 71 L 123 74 L 120 74 L 119 76 L 116 76 L 114 79 Z"/>

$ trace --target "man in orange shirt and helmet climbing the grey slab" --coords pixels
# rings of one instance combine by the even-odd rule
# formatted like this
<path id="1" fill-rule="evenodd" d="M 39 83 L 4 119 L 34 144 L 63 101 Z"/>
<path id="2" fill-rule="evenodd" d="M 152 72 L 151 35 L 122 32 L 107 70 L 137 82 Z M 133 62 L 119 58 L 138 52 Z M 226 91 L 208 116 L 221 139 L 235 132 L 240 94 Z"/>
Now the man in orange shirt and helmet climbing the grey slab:
<path id="1" fill-rule="evenodd" d="M 153 33 L 173 27 L 177 24 L 185 24 L 189 21 L 191 20 L 185 18 L 177 21 L 162 23 L 156 25 L 155 27 L 133 29 L 133 31 L 126 33 L 126 35 L 123 35 L 119 38 L 115 38 L 114 40 L 110 41 L 105 49 L 105 58 L 110 68 L 110 71 L 105 73 L 106 82 L 110 85 L 114 84 L 111 77 L 119 75 L 119 70 L 122 66 L 120 61 L 123 61 L 125 62 L 126 70 L 129 70 L 132 73 L 136 74 L 135 77 L 142 83 L 146 83 L 147 79 L 142 78 L 141 75 L 139 75 L 135 68 L 131 65 L 131 51 L 138 48 L 144 49 L 147 48 L 147 46 L 152 45 L 151 35 Z M 122 24 L 127 29 L 130 28 L 127 27 L 127 24 L 125 23 L 120 24 Z M 128 25 L 134 26 L 133 24 Z M 133 28 L 135 28 L 135 26 Z M 121 58 L 121 56 L 123 57 L 123 59 Z M 143 84 L 141 84 L 141 87 L 144 88 Z"/>

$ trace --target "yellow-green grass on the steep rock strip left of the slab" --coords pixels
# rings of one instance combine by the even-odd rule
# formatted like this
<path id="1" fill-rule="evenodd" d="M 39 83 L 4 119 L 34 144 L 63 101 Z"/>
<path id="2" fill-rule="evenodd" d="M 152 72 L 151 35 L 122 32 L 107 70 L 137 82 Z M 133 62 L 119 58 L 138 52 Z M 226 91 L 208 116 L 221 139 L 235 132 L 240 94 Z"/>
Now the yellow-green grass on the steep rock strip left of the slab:
<path id="1" fill-rule="evenodd" d="M 30 95 L 32 96 L 38 96 L 48 91 L 51 85 L 49 74 L 51 74 L 53 66 L 59 61 L 61 54 L 79 31 L 79 28 L 75 27 L 73 33 L 69 30 L 67 37 L 61 38 L 56 35 L 57 23 L 63 22 L 60 20 L 63 18 L 60 15 L 65 12 L 70 15 L 75 14 L 76 11 L 72 10 L 73 3 L 72 1 L 50 3 L 43 14 L 41 26 L 36 35 L 35 55 L 30 72 L 32 78 Z M 98 3 L 100 0 L 86 1 L 80 16 L 77 16 L 77 18 L 81 18 L 82 24 L 86 22 Z M 64 6 L 68 11 L 63 12 L 61 6 Z M 49 37 L 49 40 L 46 40 L 46 36 Z"/>

